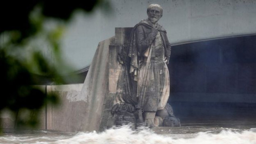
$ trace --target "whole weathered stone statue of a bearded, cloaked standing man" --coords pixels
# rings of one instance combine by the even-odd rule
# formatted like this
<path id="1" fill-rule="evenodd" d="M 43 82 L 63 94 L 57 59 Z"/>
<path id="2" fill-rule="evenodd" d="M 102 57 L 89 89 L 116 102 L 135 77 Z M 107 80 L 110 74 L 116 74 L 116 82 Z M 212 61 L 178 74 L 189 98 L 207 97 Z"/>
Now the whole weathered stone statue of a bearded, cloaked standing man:
<path id="1" fill-rule="evenodd" d="M 171 45 L 166 30 L 157 23 L 163 16 L 162 7 L 149 5 L 147 16 L 133 27 L 128 44 L 118 56 L 124 72 L 119 76 L 119 93 L 112 114 L 118 119 L 116 123 L 123 120 L 154 127 L 162 126 L 165 121 L 165 124 L 179 126 L 172 107 L 166 104 L 170 95 L 167 64 Z M 161 124 L 157 118 L 161 118 Z M 170 119 L 174 121 L 172 124 Z"/>

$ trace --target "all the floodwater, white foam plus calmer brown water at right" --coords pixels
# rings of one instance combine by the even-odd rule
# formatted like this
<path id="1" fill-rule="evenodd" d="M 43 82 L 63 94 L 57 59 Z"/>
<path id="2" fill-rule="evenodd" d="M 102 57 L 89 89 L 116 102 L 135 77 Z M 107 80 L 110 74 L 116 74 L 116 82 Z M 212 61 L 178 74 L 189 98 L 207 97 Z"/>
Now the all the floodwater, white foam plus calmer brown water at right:
<path id="1" fill-rule="evenodd" d="M 63 133 L 5 130 L 0 144 L 256 144 L 254 120 L 183 122 L 181 127 L 132 130 L 129 126 L 103 132 Z"/>

